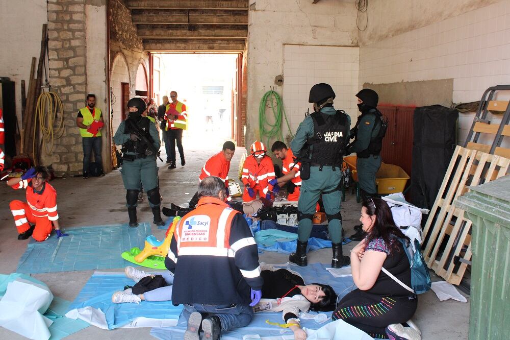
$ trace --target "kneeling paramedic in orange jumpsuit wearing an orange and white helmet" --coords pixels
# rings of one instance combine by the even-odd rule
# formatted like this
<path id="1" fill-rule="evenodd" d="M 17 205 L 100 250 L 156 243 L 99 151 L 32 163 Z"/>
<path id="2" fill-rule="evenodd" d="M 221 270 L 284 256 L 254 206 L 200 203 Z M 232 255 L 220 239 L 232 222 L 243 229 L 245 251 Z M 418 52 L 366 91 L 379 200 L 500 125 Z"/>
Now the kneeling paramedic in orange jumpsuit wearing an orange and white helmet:
<path id="1" fill-rule="evenodd" d="M 266 155 L 266 145 L 260 141 L 251 144 L 250 153 L 243 164 L 241 180 L 244 184 L 243 201 L 250 202 L 259 197 L 271 199 L 272 185 L 269 181 L 274 179 L 274 165 L 271 157 Z"/>

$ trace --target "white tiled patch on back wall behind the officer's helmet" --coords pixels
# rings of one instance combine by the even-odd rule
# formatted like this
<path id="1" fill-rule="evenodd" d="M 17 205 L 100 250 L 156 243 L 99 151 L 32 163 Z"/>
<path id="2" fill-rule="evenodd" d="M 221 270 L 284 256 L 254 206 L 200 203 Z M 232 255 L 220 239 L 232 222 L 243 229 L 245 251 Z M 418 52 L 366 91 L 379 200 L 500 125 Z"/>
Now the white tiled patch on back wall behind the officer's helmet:
<path id="1" fill-rule="evenodd" d="M 313 112 L 308 98 L 310 88 L 317 83 L 333 87 L 335 108 L 344 110 L 355 122 L 359 53 L 359 47 L 285 45 L 283 101 L 293 133 L 307 109 Z M 284 136 L 286 133 L 285 126 Z"/>

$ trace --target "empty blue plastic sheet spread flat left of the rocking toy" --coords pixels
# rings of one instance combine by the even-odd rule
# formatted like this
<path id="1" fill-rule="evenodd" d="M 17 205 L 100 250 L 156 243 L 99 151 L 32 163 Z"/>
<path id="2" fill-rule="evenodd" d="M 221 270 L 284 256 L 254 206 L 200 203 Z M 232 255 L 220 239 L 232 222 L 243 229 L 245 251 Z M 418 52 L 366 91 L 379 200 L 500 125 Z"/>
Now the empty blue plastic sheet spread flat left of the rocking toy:
<path id="1" fill-rule="evenodd" d="M 16 272 L 25 274 L 123 268 L 130 262 L 120 254 L 133 247 L 143 249 L 150 224 L 138 228 L 127 224 L 69 228 L 69 236 L 52 234 L 43 242 L 32 239 Z"/>

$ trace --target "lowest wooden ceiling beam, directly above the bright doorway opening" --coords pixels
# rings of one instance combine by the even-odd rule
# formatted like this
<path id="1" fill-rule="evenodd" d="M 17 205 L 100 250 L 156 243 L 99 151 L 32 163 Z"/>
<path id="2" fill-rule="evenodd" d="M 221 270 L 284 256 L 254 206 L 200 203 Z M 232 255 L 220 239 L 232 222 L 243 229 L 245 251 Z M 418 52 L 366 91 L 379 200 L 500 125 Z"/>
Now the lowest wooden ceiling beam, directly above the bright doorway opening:
<path id="1" fill-rule="evenodd" d="M 189 40 L 143 40 L 147 52 L 242 52 L 245 40 L 189 39 Z"/>

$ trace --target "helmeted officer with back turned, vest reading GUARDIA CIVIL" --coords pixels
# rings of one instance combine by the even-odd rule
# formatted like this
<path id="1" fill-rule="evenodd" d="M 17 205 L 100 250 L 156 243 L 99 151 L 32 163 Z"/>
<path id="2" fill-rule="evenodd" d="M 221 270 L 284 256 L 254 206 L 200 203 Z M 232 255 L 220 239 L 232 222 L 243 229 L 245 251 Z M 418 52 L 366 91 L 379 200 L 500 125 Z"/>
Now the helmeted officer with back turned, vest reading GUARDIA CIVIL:
<path id="1" fill-rule="evenodd" d="M 312 230 L 312 217 L 320 196 L 328 220 L 333 244 L 331 266 L 341 268 L 350 264 L 342 255 L 342 217 L 340 215 L 342 157 L 349 140 L 350 117 L 335 110 L 335 92 L 328 84 L 316 84 L 310 90 L 309 103 L 314 113 L 305 117 L 291 142 L 291 150 L 301 160 L 301 193 L 299 229 L 296 252 L 289 260 L 300 266 L 307 265 L 307 245 Z"/>

